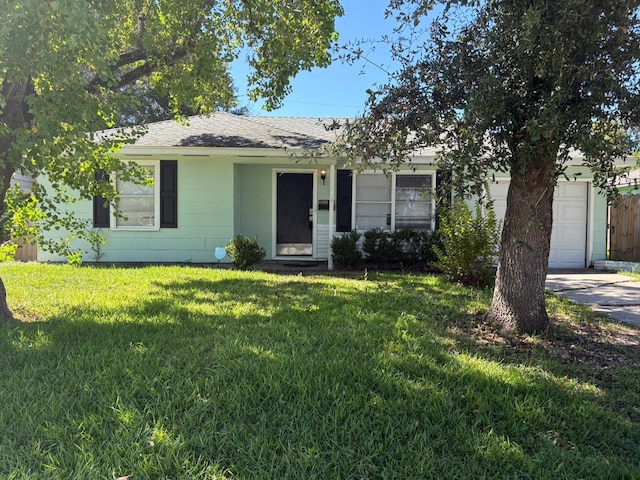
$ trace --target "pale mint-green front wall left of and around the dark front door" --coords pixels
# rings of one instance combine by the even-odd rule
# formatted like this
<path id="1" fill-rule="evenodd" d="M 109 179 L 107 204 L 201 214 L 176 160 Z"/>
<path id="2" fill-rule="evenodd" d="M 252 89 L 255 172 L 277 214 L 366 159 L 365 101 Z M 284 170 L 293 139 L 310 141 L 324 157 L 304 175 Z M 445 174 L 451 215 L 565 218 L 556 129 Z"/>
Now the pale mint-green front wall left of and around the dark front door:
<path id="1" fill-rule="evenodd" d="M 272 258 L 273 175 L 274 171 L 317 168 L 321 199 L 329 199 L 329 179 L 322 185 L 320 170 L 329 167 L 300 165 L 288 158 L 270 157 L 247 160 L 237 156 L 182 156 L 156 154 L 142 160 L 178 161 L 178 228 L 152 230 L 114 230 L 97 228 L 107 243 L 101 248 L 100 262 L 178 262 L 214 263 L 216 247 L 224 247 L 234 235 L 257 236 L 260 245 Z M 254 162 L 254 163 L 247 163 Z M 260 162 L 260 163 L 258 163 Z M 316 206 L 317 207 L 317 206 Z M 68 207 L 77 218 L 92 220 L 91 201 L 81 200 Z M 316 211 L 323 257 L 328 257 L 328 211 Z M 50 238 L 65 238 L 64 231 L 49 232 Z M 325 245 L 326 244 L 326 245 Z M 89 244 L 72 240 L 83 252 L 83 261 L 95 262 Z M 66 258 L 43 250 L 38 261 L 64 262 Z M 230 262 L 226 257 L 223 263 Z"/>

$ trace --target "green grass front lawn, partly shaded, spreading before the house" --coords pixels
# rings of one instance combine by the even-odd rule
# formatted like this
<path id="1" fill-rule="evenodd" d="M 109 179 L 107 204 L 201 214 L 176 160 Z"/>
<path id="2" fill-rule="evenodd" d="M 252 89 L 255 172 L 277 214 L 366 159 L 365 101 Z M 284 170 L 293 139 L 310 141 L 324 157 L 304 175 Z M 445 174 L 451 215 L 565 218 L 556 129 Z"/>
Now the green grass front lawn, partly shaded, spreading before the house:
<path id="1" fill-rule="evenodd" d="M 5 264 L 3 479 L 640 478 L 638 330 L 430 276 Z"/>

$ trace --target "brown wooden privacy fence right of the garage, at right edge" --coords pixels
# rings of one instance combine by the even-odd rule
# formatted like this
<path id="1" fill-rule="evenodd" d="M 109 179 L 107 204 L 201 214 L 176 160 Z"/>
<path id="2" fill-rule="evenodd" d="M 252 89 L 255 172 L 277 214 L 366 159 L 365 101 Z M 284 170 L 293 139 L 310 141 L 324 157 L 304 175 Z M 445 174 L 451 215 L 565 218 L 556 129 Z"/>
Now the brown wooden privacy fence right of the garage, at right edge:
<path id="1" fill-rule="evenodd" d="M 640 262 L 640 195 L 623 195 L 609 207 L 609 259 Z"/>

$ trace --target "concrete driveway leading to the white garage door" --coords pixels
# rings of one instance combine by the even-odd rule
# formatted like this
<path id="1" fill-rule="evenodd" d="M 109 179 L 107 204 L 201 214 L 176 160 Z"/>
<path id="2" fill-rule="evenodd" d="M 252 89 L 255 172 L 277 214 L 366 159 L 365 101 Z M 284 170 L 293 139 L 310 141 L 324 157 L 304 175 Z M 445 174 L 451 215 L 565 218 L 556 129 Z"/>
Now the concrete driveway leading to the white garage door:
<path id="1" fill-rule="evenodd" d="M 549 270 L 547 290 L 640 327 L 640 282 L 594 269 Z"/>

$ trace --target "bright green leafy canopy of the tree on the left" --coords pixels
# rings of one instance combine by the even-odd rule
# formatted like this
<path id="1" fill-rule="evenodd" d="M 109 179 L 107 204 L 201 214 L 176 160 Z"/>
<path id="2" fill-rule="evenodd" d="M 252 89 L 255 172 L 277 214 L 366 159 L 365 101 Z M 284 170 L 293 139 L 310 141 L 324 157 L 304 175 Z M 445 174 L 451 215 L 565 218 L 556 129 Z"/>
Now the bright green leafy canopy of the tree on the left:
<path id="1" fill-rule="evenodd" d="M 240 58 L 249 97 L 275 108 L 297 72 L 330 63 L 342 13 L 338 0 L 0 0 L 3 227 L 16 170 L 51 181 L 54 192 L 36 187 L 27 199 L 40 211 L 55 211 L 66 187 L 111 198 L 97 171 L 136 175 L 111 154 L 139 131 L 95 137 L 140 105 L 136 86 L 168 97 L 175 114 L 206 114 L 234 103 Z"/>

